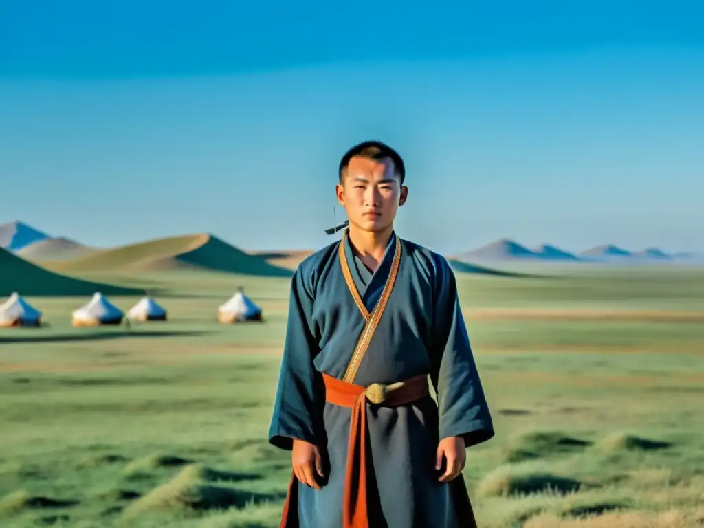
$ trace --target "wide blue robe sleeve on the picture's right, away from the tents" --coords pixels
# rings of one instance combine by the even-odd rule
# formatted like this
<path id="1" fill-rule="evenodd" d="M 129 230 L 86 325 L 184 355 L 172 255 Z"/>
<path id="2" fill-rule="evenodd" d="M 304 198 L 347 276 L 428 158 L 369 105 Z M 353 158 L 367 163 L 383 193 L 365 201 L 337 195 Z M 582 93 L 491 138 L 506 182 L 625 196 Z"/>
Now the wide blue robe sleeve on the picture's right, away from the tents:
<path id="1" fill-rule="evenodd" d="M 494 436 L 494 424 L 460 309 L 457 280 L 445 258 L 439 258 L 435 275 L 431 379 L 439 437 L 462 436 L 465 446 L 474 446 Z"/>

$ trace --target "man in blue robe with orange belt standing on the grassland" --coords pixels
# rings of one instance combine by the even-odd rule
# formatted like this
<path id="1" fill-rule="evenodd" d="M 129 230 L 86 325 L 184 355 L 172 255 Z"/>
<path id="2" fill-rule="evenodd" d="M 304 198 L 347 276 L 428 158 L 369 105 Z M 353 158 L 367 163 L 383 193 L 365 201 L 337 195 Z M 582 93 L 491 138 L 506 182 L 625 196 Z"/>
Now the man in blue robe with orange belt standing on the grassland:
<path id="1" fill-rule="evenodd" d="M 465 448 L 494 426 L 453 271 L 394 232 L 405 177 L 389 146 L 348 151 L 344 236 L 294 273 L 269 432 L 292 451 L 282 527 L 476 526 Z"/>

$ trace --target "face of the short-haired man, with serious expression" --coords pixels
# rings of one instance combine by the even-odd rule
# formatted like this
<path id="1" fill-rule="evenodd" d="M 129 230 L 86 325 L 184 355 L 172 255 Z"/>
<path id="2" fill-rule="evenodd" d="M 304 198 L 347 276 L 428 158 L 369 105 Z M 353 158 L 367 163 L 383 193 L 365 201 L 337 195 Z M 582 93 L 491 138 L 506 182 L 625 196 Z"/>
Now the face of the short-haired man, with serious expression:
<path id="1" fill-rule="evenodd" d="M 394 171 L 390 158 L 376 161 L 355 157 L 350 160 L 337 201 L 344 206 L 351 224 L 362 230 L 379 232 L 389 227 L 398 206 L 406 203 L 408 188 Z"/>

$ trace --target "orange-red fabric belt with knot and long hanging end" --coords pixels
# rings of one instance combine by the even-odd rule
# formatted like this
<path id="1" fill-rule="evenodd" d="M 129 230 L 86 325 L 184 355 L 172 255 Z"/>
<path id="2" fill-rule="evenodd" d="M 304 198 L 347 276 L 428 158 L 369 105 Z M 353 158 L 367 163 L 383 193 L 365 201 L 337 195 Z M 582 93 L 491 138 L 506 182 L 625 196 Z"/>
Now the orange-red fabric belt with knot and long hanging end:
<path id="1" fill-rule="evenodd" d="M 367 401 L 387 407 L 413 403 L 429 396 L 428 379 L 421 375 L 402 383 L 364 387 L 325 374 L 322 376 L 325 380 L 325 399 L 334 405 L 352 408 L 342 528 L 370 528 L 367 509 Z"/>

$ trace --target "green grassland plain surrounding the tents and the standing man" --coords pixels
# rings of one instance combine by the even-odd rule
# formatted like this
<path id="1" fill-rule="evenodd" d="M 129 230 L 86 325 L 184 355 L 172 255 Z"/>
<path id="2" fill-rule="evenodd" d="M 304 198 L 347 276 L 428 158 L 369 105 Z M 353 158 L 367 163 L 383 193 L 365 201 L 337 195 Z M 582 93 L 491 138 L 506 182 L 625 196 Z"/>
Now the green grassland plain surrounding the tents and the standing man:
<path id="1" fill-rule="evenodd" d="M 704 270 L 547 275 L 458 273 L 497 432 L 468 451 L 479 526 L 702 526 Z M 0 526 L 278 526 L 289 278 L 82 277 L 158 291 L 170 321 L 73 329 L 82 299 L 26 296 L 51 327 L 0 331 Z M 218 325 L 240 285 L 266 322 Z"/>

